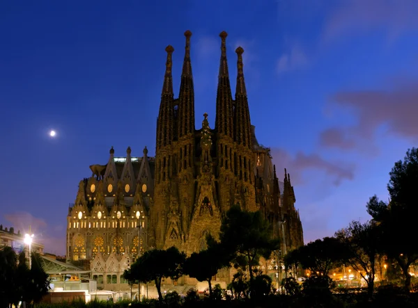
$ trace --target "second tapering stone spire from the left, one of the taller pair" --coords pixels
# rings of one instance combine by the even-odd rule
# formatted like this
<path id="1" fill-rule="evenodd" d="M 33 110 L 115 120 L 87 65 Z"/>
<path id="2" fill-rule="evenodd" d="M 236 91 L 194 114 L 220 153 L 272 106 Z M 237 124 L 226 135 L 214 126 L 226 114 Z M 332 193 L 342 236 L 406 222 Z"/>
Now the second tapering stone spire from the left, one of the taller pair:
<path id="1" fill-rule="evenodd" d="M 192 62 L 190 60 L 190 37 L 192 32 L 185 32 L 185 60 L 181 73 L 180 95 L 178 103 L 178 138 L 194 133 L 194 86 Z"/>

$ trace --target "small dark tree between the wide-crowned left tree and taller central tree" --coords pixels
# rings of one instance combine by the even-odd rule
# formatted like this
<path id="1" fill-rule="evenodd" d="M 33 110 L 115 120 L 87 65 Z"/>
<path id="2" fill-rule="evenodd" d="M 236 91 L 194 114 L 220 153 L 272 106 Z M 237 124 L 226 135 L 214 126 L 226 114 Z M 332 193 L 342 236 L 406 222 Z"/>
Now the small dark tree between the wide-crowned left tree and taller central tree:
<path id="1" fill-rule="evenodd" d="M 186 259 L 183 268 L 186 275 L 196 278 L 199 282 L 208 282 L 210 298 L 212 298 L 212 284 L 210 281 L 225 264 L 222 254 L 219 243 L 209 244 L 207 250 L 192 253 Z"/>

